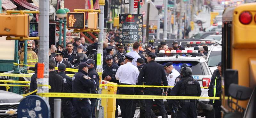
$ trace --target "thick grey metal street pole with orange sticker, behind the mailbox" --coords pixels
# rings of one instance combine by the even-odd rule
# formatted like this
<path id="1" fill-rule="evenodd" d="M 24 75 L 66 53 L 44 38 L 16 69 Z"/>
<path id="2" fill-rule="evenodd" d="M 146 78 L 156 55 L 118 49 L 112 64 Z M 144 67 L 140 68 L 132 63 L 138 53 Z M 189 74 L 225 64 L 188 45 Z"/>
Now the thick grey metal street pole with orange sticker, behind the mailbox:
<path id="1" fill-rule="evenodd" d="M 37 93 L 49 92 L 49 7 L 50 0 L 39 0 L 39 22 L 38 22 L 38 64 L 44 64 L 43 78 L 37 79 Z M 61 32 L 61 28 L 60 28 Z M 61 41 L 61 37 L 60 37 Z M 61 42 L 60 42 L 61 44 Z M 38 67 L 37 67 L 38 70 Z M 39 74 L 37 74 L 38 76 Z M 44 86 L 40 86 L 44 85 Z M 48 97 L 43 97 L 48 101 Z"/>

